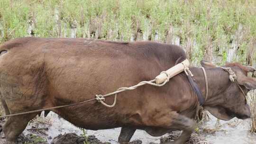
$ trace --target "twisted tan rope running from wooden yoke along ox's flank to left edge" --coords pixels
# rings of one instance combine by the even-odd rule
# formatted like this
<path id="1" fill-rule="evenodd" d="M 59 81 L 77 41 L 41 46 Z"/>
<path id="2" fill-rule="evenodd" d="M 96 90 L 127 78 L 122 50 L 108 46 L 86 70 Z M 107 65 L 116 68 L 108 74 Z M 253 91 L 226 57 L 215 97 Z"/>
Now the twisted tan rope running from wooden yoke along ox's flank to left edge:
<path id="1" fill-rule="evenodd" d="M 154 83 L 155 80 L 151 80 L 151 81 L 141 81 L 139 82 L 137 85 L 134 85 L 134 86 L 131 86 L 131 87 L 122 87 L 122 88 L 119 88 L 118 90 L 114 91 L 114 92 L 111 92 L 111 93 L 108 93 L 106 95 L 95 95 L 95 98 L 94 99 L 88 99 L 88 100 L 84 100 L 84 101 L 81 101 L 81 102 L 78 102 L 78 103 L 73 103 L 73 104 L 68 104 L 68 105 L 63 105 L 63 106 L 56 106 L 56 107 L 51 107 L 51 108 L 42 108 L 42 109 L 38 109 L 38 110 L 32 110 L 32 111 L 27 111 L 27 112 L 22 112 L 22 113 L 18 113 L 18 114 L 10 114 L 10 115 L 6 115 L 6 116 L 1 116 L 0 118 L 3 118 L 3 117 L 13 117 L 13 116 L 19 116 L 19 115 L 24 115 L 24 114 L 30 114 L 30 113 L 35 113 L 35 112 L 41 112 L 41 111 L 44 111 L 44 110 L 52 110 L 52 109 L 56 109 L 56 108 L 64 108 L 64 107 L 71 107 L 71 106 L 76 106 L 76 105 L 81 105 L 83 103 L 87 103 L 87 102 L 91 102 L 93 100 L 97 100 L 98 102 L 101 102 L 102 105 L 108 107 L 108 108 L 112 108 L 116 105 L 116 102 L 117 102 L 117 94 L 122 92 L 122 91 L 126 91 L 126 90 L 134 90 L 136 89 L 137 87 L 139 86 L 142 86 L 142 85 L 145 85 L 145 84 L 149 84 L 149 85 L 153 85 L 153 86 L 157 86 L 157 87 L 161 87 L 161 86 L 164 86 L 165 83 L 167 83 L 169 81 L 169 75 L 167 74 L 167 72 L 161 72 L 161 73 L 165 73 L 167 78 L 166 80 L 161 83 L 161 84 L 156 84 Z M 105 97 L 109 97 L 111 95 L 115 95 L 115 98 L 114 98 L 114 102 L 112 105 L 108 105 L 106 104 L 104 101 L 105 101 Z"/>

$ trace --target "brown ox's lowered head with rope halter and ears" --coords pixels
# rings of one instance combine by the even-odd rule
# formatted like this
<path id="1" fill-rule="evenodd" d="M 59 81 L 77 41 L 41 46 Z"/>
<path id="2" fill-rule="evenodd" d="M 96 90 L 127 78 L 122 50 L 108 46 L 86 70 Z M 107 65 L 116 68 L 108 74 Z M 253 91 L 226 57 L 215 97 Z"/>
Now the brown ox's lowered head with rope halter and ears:
<path id="1" fill-rule="evenodd" d="M 216 68 L 210 62 L 201 61 L 201 65 L 205 68 Z M 219 78 L 219 85 L 223 85 L 223 89 L 221 92 L 216 92 L 214 96 L 212 96 L 211 101 L 214 101 L 210 105 L 206 105 L 204 108 L 207 109 L 213 116 L 222 119 L 222 120 L 229 120 L 233 117 L 238 117 L 240 119 L 246 119 L 251 116 L 250 108 L 247 105 L 246 98 L 242 90 L 244 91 L 245 95 L 249 90 L 256 89 L 256 79 L 248 77 L 248 72 L 255 72 L 255 68 L 253 67 L 246 67 L 239 63 L 228 63 L 224 65 L 224 67 L 230 67 L 233 72 L 237 75 L 237 83 L 231 82 L 229 80 L 228 75 L 223 78 Z M 219 72 L 225 72 L 219 69 Z M 228 72 L 226 72 L 228 73 Z M 211 83 L 209 83 L 210 85 Z M 240 90 L 240 88 L 242 90 Z M 210 100 L 210 99 L 209 99 Z"/>

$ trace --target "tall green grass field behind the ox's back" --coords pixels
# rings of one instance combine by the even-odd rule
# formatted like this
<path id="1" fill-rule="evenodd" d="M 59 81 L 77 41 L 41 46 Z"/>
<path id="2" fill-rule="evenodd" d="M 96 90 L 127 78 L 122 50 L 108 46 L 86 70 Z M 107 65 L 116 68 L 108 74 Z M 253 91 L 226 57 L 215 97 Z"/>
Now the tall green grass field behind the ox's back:
<path id="1" fill-rule="evenodd" d="M 29 21 L 37 37 L 69 37 L 75 23 L 76 37 L 115 41 L 131 41 L 138 33 L 135 40 L 166 42 L 174 27 L 171 35 L 180 37 L 181 46 L 192 45 L 188 55 L 194 63 L 210 48 L 213 57 L 221 57 L 217 64 L 227 61 L 242 26 L 233 61 L 256 61 L 255 0 L 1 0 L 0 43 L 29 36 Z"/>

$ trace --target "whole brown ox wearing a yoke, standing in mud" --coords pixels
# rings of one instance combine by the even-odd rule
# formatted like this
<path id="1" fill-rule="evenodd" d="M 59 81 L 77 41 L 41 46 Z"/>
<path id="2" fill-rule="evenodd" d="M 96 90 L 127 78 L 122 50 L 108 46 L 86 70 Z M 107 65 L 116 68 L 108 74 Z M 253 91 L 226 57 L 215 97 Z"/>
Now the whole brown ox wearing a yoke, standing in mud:
<path id="1" fill-rule="evenodd" d="M 93 99 L 95 94 L 152 80 L 185 59 L 183 50 L 175 45 L 82 38 L 20 38 L 1 45 L 0 52 L 0 92 L 6 114 Z M 245 98 L 229 80 L 228 72 L 205 61 L 201 64 L 209 81 L 204 108 L 223 120 L 250 117 Z M 255 71 L 253 68 L 239 63 L 227 66 L 236 72 L 245 93 L 256 89 L 256 80 L 247 77 L 247 72 Z M 202 70 L 191 71 L 205 95 Z M 109 97 L 105 102 L 112 101 Z M 92 101 L 52 111 L 86 129 L 123 127 L 120 143 L 127 143 L 136 129 L 142 129 L 153 136 L 183 130 L 173 143 L 184 144 L 193 132 L 197 109 L 197 96 L 182 72 L 163 87 L 146 85 L 120 93 L 114 108 Z M 3 126 L 7 140 L 15 141 L 37 114 L 8 117 Z"/>

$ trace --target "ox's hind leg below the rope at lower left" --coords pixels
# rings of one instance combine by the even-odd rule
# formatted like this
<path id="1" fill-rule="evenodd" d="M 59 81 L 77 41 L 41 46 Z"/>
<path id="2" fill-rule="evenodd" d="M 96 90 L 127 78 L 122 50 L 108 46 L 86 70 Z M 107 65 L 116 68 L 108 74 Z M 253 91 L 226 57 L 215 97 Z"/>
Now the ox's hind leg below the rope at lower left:
<path id="1" fill-rule="evenodd" d="M 3 125 L 3 132 L 7 141 L 15 142 L 23 130 L 26 128 L 28 122 L 36 117 L 37 114 L 26 114 L 14 117 L 8 117 Z"/>

